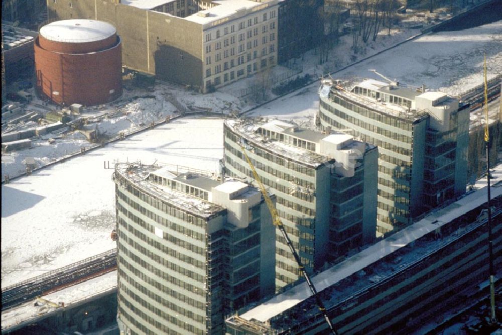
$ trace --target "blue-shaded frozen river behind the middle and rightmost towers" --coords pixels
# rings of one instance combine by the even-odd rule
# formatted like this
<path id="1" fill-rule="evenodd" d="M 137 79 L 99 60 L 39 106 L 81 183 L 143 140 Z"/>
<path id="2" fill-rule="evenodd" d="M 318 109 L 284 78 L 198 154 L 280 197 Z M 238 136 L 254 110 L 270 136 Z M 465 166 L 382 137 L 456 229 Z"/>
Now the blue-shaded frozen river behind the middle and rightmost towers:
<path id="1" fill-rule="evenodd" d="M 483 82 L 486 53 L 488 79 L 502 73 L 502 21 L 463 31 L 427 34 L 332 75 L 382 80 L 376 71 L 413 86 L 459 94 Z M 255 110 L 255 116 L 312 118 L 319 108 L 318 83 Z"/>

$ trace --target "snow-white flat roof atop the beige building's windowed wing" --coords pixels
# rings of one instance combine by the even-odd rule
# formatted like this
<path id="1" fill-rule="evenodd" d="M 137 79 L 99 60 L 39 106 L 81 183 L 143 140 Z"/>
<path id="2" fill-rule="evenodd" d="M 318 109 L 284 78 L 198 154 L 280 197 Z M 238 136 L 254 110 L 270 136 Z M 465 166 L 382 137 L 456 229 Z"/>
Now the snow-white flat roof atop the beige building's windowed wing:
<path id="1" fill-rule="evenodd" d="M 187 16 L 185 20 L 203 25 L 226 18 L 240 9 L 247 10 L 253 7 L 261 6 L 264 3 L 258 3 L 249 0 L 216 0 L 213 1 L 212 4 L 217 4 L 218 6 Z M 207 16 L 203 17 L 198 13 L 207 13 Z"/>

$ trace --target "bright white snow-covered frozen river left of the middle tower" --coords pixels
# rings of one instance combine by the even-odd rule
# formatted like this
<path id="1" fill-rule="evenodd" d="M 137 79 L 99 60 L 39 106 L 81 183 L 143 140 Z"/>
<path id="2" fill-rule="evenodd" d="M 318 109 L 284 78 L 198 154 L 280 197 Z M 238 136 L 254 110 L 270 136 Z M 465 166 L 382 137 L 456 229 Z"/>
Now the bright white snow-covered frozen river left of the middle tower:
<path id="1" fill-rule="evenodd" d="M 178 119 L 2 185 L 2 287 L 116 247 L 105 161 L 216 172 L 222 156 L 223 120 Z"/>

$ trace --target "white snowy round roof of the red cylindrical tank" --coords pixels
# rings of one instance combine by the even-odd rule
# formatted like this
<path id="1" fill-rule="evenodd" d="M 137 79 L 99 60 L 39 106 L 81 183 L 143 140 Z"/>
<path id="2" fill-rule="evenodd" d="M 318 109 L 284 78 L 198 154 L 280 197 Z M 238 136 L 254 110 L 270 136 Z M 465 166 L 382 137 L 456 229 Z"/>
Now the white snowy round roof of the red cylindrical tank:
<path id="1" fill-rule="evenodd" d="M 40 28 L 45 39 L 70 43 L 100 41 L 115 33 L 115 27 L 109 23 L 95 20 L 62 20 Z"/>

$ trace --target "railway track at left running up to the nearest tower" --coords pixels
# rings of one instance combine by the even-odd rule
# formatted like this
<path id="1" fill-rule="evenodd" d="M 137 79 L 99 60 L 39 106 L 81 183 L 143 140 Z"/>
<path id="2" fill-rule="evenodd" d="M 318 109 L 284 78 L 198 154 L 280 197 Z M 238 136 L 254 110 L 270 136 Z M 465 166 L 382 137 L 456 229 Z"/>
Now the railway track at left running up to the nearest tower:
<path id="1" fill-rule="evenodd" d="M 86 258 L 43 275 L 2 289 L 2 310 L 22 304 L 37 296 L 75 285 L 116 268 L 116 250 Z"/>

